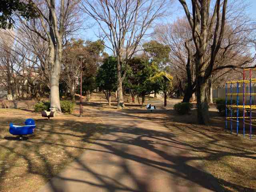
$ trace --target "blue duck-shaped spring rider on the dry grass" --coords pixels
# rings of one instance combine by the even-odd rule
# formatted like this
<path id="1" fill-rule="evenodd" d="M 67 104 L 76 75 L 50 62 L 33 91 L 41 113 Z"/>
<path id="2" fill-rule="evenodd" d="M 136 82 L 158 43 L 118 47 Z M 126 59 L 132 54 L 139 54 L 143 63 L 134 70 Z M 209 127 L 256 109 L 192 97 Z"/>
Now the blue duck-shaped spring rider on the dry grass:
<path id="1" fill-rule="evenodd" d="M 9 132 L 12 135 L 18 135 L 20 140 L 23 140 L 23 135 L 30 135 L 34 133 L 36 128 L 35 121 L 33 119 L 26 119 L 24 126 L 14 125 L 10 123 Z"/>

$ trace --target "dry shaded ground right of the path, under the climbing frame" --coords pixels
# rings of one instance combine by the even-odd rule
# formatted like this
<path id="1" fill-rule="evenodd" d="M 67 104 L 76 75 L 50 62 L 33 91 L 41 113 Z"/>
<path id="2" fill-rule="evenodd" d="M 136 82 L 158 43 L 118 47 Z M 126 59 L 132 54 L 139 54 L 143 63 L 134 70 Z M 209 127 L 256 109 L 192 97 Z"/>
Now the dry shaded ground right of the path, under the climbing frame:
<path id="1" fill-rule="evenodd" d="M 214 108 L 210 109 L 209 126 L 197 124 L 196 110 L 183 116 L 171 109 L 146 114 L 142 110 L 126 110 L 126 113 L 160 120 L 175 134 L 174 143 L 193 149 L 192 153 L 198 156 L 196 160 L 204 162 L 206 171 L 218 178 L 223 191 L 256 191 L 255 134 L 251 140 L 248 134 L 245 138 L 242 134 L 230 134 L 230 130 L 224 129 L 224 118 Z"/>

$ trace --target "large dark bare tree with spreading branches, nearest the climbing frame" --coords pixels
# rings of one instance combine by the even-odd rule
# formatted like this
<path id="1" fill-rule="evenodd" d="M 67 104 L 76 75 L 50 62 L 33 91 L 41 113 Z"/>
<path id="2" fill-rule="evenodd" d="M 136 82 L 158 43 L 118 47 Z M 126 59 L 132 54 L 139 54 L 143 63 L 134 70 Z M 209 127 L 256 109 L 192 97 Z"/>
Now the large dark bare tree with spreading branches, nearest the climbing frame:
<path id="1" fill-rule="evenodd" d="M 242 11 L 234 8 L 235 3 L 233 1 L 230 1 L 230 7 L 227 9 L 227 0 L 192 0 L 192 11 L 189 10 L 186 0 L 179 0 L 179 2 L 184 8 L 196 49 L 194 56 L 198 122 L 208 124 L 207 81 L 214 70 L 236 67 L 232 64 L 216 66 L 216 60 L 218 59 L 218 53 L 220 51 L 223 50 L 225 53 L 225 50 L 232 45 L 229 43 L 231 38 L 228 38 L 227 45 L 224 42 L 227 20 L 234 21 L 235 19 L 232 18 L 232 16 L 241 15 Z M 236 14 L 234 14 L 234 12 L 236 12 Z M 236 24 L 238 24 L 238 22 Z M 246 24 L 244 24 L 244 26 L 246 26 Z M 236 30 L 237 28 L 233 29 Z M 244 30 L 240 32 L 242 31 Z M 224 56 L 225 54 L 222 55 Z"/>

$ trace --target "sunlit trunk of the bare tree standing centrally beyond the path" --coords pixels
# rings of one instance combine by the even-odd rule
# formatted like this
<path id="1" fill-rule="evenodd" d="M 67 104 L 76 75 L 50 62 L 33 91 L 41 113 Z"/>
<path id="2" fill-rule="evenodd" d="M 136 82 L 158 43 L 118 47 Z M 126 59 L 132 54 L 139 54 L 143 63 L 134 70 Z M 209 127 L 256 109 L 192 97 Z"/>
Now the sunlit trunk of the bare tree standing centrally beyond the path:
<path id="1" fill-rule="evenodd" d="M 117 56 L 117 108 L 124 108 L 124 97 L 122 88 L 122 64 L 120 62 L 120 56 Z"/>

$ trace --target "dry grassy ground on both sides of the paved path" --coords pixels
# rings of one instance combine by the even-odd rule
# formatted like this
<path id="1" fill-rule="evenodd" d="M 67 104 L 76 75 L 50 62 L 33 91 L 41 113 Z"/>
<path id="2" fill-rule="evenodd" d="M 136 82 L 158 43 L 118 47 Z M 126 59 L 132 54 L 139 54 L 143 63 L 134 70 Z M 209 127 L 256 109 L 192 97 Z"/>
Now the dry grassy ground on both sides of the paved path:
<path id="1" fill-rule="evenodd" d="M 159 100 L 147 100 L 159 110 L 148 112 L 138 104 L 130 104 L 120 112 L 159 121 L 172 134 L 178 144 L 192 148 L 196 160 L 204 162 L 208 172 L 218 178 L 224 191 L 256 191 L 256 138 L 230 134 L 224 130 L 224 118 L 210 108 L 210 126 L 196 123 L 196 110 L 180 116 L 172 109 L 180 100 L 168 100 L 163 108 Z M 78 104 L 78 103 L 77 103 Z M 90 116 L 86 109 L 116 111 L 109 107 L 103 94 L 94 94 L 84 102 L 84 114 L 78 118 L 78 105 L 74 114 L 60 115 L 44 120 L 40 114 L 19 102 L 18 109 L 0 110 L 0 192 L 36 191 L 67 164 L 84 152 L 90 138 L 97 138 L 104 124 L 100 116 Z M 20 124 L 26 118 L 36 120 L 36 131 L 28 140 L 17 141 L 8 133 L 10 122 Z M 81 124 L 81 122 L 83 122 Z M 100 122 L 95 124 L 95 122 Z"/>

